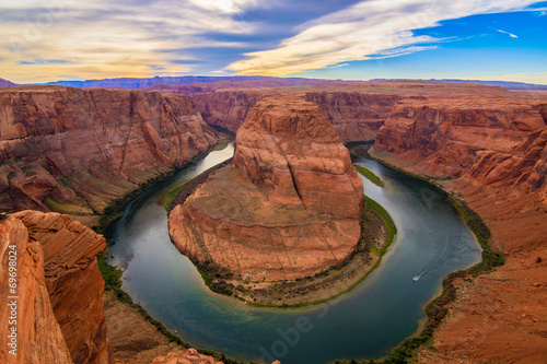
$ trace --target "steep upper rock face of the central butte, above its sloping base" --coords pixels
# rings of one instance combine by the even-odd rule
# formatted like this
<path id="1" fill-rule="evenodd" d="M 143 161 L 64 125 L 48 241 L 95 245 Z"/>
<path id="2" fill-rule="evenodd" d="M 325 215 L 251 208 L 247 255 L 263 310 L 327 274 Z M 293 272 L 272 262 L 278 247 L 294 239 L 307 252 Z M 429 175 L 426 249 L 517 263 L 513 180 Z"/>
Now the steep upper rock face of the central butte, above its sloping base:
<path id="1" fill-rule="evenodd" d="M 275 206 L 359 216 L 361 178 L 314 103 L 270 97 L 258 104 L 237 131 L 234 166 L 264 184 Z"/>

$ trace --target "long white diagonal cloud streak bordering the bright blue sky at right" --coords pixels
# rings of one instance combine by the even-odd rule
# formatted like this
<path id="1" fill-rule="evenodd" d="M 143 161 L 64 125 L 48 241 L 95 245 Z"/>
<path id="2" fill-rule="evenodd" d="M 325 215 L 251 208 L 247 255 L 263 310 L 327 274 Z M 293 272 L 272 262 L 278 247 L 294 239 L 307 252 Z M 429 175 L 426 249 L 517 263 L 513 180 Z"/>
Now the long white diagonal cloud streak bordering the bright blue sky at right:
<path id="1" fill-rule="evenodd" d="M 229 70 L 240 74 L 288 75 L 396 49 L 419 51 L 442 39 L 412 30 L 475 14 L 524 10 L 532 0 L 369 0 L 303 24 L 300 33 L 272 49 L 246 54 Z M 414 48 L 411 46 L 415 46 Z"/>

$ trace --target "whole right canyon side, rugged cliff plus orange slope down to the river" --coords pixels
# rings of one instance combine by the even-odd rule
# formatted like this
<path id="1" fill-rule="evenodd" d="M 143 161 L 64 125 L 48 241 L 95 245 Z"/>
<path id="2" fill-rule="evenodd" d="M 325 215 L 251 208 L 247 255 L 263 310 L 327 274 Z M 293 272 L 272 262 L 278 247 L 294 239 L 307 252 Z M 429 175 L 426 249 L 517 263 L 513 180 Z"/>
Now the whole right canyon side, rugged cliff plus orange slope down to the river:
<path id="1" fill-rule="evenodd" d="M 437 184 L 482 216 L 507 257 L 489 274 L 456 281 L 456 302 L 434 336 L 438 352 L 420 362 L 547 357 L 546 104 L 515 94 L 404 101 L 380 130 L 372 154 L 441 177 Z"/>

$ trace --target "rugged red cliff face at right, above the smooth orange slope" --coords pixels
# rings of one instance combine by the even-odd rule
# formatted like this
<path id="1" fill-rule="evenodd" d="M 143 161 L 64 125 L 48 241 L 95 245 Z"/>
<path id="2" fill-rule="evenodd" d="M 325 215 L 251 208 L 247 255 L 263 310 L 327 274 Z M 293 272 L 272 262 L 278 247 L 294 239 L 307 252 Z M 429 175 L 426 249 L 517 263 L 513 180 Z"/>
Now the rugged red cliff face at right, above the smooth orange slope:
<path id="1" fill-rule="evenodd" d="M 513 154 L 544 126 L 527 101 L 415 97 L 395 105 L 374 145 L 431 176 L 459 177 L 485 152 Z"/>

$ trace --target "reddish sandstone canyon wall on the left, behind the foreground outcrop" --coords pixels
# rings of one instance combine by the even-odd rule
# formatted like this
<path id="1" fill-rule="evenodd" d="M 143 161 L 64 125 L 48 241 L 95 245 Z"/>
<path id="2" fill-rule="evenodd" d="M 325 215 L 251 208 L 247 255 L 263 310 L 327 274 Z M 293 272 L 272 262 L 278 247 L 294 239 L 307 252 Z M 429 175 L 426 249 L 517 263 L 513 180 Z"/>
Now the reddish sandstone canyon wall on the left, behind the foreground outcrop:
<path id="1" fill-rule="evenodd" d="M 5 89 L 0 91 L 0 209 L 49 208 L 78 219 L 102 212 L 216 141 L 184 95 Z"/>

